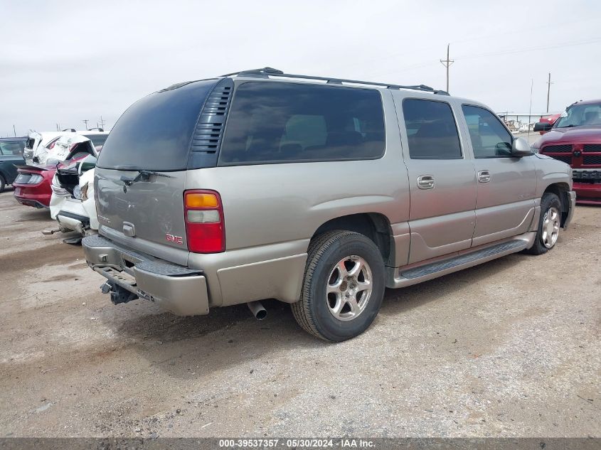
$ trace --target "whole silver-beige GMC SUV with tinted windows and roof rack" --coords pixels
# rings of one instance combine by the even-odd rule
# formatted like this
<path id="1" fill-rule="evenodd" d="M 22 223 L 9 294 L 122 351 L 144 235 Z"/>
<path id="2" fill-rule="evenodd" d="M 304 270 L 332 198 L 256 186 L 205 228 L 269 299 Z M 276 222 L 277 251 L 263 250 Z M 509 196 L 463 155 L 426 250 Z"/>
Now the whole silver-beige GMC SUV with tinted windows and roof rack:
<path id="1" fill-rule="evenodd" d="M 385 287 L 551 250 L 575 208 L 570 167 L 481 103 L 272 68 L 134 103 L 95 195 L 83 247 L 113 303 L 263 318 L 277 299 L 328 341 L 365 331 Z"/>

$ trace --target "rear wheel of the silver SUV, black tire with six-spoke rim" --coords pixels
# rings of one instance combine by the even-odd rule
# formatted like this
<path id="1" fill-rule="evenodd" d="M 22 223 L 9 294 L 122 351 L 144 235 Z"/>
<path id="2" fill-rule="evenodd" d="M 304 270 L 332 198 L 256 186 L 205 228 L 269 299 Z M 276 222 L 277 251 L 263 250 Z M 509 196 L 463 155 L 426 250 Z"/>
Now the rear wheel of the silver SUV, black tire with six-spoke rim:
<path id="1" fill-rule="evenodd" d="M 384 289 L 384 262 L 372 240 L 356 232 L 326 232 L 309 245 L 301 298 L 291 305 L 292 314 L 308 333 L 346 341 L 371 325 Z"/>

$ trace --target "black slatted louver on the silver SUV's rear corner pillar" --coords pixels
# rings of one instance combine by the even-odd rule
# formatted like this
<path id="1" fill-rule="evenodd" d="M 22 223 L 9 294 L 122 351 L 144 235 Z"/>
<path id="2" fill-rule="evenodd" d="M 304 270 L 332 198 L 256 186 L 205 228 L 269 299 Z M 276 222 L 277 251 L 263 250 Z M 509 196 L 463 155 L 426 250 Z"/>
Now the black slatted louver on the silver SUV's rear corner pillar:
<path id="1" fill-rule="evenodd" d="M 231 78 L 224 78 L 218 82 L 211 94 L 208 95 L 194 130 L 188 168 L 215 166 L 217 164 L 218 151 L 223 139 L 225 119 L 228 115 L 232 93 L 233 81 Z"/>

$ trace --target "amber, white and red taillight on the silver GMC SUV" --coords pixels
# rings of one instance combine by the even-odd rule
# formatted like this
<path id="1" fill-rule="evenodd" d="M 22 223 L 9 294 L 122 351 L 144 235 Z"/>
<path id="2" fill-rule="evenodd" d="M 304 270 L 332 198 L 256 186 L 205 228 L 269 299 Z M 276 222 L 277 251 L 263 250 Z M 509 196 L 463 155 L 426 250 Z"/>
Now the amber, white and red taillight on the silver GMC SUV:
<path id="1" fill-rule="evenodd" d="M 223 205 L 216 191 L 184 191 L 184 218 L 188 250 L 225 252 Z"/>

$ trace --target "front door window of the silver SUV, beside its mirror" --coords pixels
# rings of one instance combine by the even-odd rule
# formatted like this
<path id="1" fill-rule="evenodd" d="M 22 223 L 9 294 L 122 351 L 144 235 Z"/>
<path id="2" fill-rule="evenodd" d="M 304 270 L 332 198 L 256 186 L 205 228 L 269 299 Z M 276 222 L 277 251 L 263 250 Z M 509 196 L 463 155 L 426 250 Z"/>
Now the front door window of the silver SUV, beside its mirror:
<path id="1" fill-rule="evenodd" d="M 489 110 L 462 105 L 474 158 L 499 158 L 511 156 L 511 134 Z"/>

